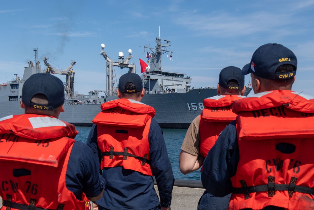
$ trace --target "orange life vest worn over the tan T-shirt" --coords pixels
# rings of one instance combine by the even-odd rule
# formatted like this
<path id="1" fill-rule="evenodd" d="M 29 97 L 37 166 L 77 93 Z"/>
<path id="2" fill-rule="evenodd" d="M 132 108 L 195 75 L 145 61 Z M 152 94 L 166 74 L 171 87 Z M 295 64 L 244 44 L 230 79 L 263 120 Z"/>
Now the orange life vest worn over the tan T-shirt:
<path id="1" fill-rule="evenodd" d="M 203 109 L 199 122 L 202 156 L 207 156 L 220 132 L 236 119 L 236 114 L 232 111 L 232 103 L 243 97 L 239 95 L 217 95 L 203 100 L 203 105 L 206 108 Z"/>

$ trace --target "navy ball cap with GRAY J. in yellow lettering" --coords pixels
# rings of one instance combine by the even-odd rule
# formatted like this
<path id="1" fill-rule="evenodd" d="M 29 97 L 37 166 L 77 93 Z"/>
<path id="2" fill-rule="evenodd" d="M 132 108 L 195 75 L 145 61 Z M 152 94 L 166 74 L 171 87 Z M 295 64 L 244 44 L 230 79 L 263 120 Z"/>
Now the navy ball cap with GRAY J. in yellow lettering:
<path id="1" fill-rule="evenodd" d="M 281 44 L 264 44 L 255 50 L 251 62 L 242 68 L 242 74 L 253 73 L 257 77 L 266 79 L 286 79 L 294 77 L 296 71 L 276 73 L 283 64 L 297 67 L 295 54 Z"/>

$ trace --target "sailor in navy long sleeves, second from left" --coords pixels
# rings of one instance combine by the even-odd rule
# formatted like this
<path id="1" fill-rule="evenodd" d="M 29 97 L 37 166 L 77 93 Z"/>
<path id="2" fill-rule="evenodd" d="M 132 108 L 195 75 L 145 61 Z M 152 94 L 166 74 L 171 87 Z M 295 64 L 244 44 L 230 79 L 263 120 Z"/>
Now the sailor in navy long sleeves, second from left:
<path id="1" fill-rule="evenodd" d="M 162 131 L 153 119 L 155 109 L 140 102 L 144 96 L 141 77 L 122 75 L 117 95 L 119 99 L 101 105 L 87 140 L 99 151 L 106 179 L 104 195 L 96 203 L 100 210 L 170 210 L 173 172 Z"/>

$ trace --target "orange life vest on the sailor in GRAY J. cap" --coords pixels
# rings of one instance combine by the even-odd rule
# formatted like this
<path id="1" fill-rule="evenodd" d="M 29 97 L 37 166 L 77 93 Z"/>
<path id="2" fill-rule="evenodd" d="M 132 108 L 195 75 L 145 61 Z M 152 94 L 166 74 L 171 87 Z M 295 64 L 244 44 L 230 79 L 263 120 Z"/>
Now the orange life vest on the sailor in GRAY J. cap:
<path id="1" fill-rule="evenodd" d="M 235 101 L 240 159 L 230 209 L 314 208 L 314 100 L 273 90 Z"/>

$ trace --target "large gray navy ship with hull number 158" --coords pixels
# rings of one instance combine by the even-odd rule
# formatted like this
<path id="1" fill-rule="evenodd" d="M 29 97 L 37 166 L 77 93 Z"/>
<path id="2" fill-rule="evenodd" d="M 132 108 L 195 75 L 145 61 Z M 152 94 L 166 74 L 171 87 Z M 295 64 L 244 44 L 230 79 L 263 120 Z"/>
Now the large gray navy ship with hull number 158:
<path id="1" fill-rule="evenodd" d="M 217 95 L 217 89 L 213 87 L 194 89 L 191 88 L 192 78 L 184 73 L 171 72 L 163 70 L 162 55 L 172 57 L 172 51 L 167 50 L 170 41 L 156 38 L 154 47 L 144 46 L 147 49 L 146 58 L 150 59 L 150 66 L 146 67 L 146 72 L 141 73 L 145 95 L 142 103 L 154 107 L 156 115 L 154 119 L 161 128 L 188 128 L 192 120 L 203 110 L 203 99 Z M 44 64 L 46 68 L 42 71 L 35 51 L 35 65 L 32 61 L 25 67 L 23 77 L 15 74 L 15 79 L 0 84 L 0 118 L 9 115 L 23 114 L 24 110 L 20 108 L 19 101 L 22 98 L 22 87 L 32 74 L 46 72 L 51 74 L 61 74 L 66 76 L 65 84 L 65 112 L 62 112 L 59 119 L 72 123 L 76 126 L 91 126 L 91 120 L 101 111 L 100 105 L 113 99 L 117 99 L 116 77 L 114 67 L 127 68 L 127 72 L 136 73 L 136 65 L 130 63 L 133 57 L 132 50 L 129 49 L 128 56 L 124 58 L 122 52 L 119 53 L 118 60 L 111 60 L 104 51 L 105 45 L 101 44 L 100 55 L 106 59 L 106 91 L 94 90 L 89 95 L 78 94 L 74 91 L 74 71 L 75 61 L 62 71 L 57 71 L 48 62 L 45 57 Z M 150 53 L 152 51 L 152 53 Z M 171 58 L 170 57 L 170 58 Z M 249 94 L 252 88 L 246 88 L 245 95 Z M 100 96 L 100 92 L 105 92 L 105 96 Z M 1 119 L 0 119 L 1 120 Z"/>

